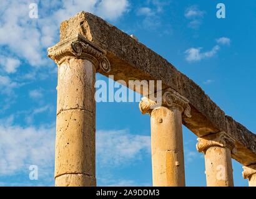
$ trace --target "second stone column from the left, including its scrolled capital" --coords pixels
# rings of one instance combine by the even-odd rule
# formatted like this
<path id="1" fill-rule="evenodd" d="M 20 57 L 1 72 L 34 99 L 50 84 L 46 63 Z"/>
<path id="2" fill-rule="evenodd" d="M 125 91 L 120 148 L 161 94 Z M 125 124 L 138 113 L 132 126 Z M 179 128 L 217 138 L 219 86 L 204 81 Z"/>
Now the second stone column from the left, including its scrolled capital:
<path id="1" fill-rule="evenodd" d="M 162 92 L 161 104 L 145 97 L 139 104 L 142 114 L 150 114 L 153 186 L 183 187 L 182 114 L 191 117 L 189 101 L 174 90 Z"/>

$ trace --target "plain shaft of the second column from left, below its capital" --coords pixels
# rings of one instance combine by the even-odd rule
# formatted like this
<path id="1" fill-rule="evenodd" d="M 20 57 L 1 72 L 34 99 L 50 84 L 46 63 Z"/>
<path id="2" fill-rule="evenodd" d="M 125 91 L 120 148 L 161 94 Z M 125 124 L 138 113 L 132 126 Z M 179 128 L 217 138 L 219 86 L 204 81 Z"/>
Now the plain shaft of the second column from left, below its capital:
<path id="1" fill-rule="evenodd" d="M 151 113 L 153 186 L 185 186 L 182 113 L 160 106 Z"/>

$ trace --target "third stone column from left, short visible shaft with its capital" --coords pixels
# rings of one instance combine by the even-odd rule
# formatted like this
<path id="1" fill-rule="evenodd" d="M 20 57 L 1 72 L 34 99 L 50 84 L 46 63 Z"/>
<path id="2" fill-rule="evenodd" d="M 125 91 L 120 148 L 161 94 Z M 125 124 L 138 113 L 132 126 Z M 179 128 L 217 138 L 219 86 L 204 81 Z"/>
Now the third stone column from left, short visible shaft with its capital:
<path id="1" fill-rule="evenodd" d="M 231 151 L 235 141 L 225 132 L 197 139 L 197 150 L 205 155 L 207 187 L 233 187 Z"/>

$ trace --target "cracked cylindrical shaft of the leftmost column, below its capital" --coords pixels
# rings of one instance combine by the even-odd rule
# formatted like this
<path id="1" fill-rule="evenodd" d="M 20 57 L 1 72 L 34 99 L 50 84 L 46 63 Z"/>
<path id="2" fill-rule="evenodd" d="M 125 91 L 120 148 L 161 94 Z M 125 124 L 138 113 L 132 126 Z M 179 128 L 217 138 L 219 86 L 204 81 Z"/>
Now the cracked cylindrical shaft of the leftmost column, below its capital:
<path id="1" fill-rule="evenodd" d="M 96 67 L 71 58 L 58 67 L 56 186 L 96 186 Z"/>

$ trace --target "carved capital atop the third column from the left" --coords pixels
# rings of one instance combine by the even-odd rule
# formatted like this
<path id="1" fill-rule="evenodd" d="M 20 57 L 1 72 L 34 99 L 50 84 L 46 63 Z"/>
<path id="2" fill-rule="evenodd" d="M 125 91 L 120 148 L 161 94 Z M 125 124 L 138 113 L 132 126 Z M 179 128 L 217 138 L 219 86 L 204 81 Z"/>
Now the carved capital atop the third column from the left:
<path id="1" fill-rule="evenodd" d="M 199 137 L 197 138 L 197 141 L 197 150 L 199 152 L 204 152 L 204 154 L 210 147 L 229 148 L 230 150 L 235 147 L 235 140 L 223 131 Z"/>

